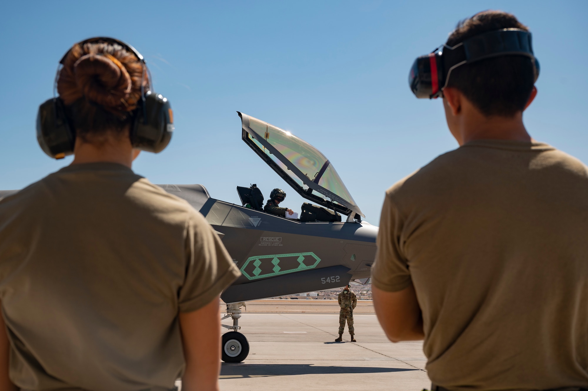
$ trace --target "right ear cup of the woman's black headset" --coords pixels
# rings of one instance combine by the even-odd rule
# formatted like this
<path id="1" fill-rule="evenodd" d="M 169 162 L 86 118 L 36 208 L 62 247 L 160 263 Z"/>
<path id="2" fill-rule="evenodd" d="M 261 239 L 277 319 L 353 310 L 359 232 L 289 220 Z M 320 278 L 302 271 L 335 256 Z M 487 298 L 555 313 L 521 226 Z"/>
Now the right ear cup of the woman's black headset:
<path id="1" fill-rule="evenodd" d="M 141 106 L 136 110 L 131 127 L 131 143 L 143 151 L 161 152 L 168 146 L 173 133 L 173 112 L 169 100 L 148 91 Z"/>

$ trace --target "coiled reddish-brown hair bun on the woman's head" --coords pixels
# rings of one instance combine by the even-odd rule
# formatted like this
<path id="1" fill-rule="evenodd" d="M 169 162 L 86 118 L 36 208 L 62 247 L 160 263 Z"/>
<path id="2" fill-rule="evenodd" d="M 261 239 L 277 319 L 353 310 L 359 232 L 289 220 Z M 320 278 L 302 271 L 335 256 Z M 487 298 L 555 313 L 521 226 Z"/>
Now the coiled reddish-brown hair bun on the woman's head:
<path id="1" fill-rule="evenodd" d="M 74 75 L 79 91 L 88 100 L 106 109 L 128 109 L 126 99 L 131 93 L 131 76 L 112 55 L 82 56 L 74 64 Z"/>

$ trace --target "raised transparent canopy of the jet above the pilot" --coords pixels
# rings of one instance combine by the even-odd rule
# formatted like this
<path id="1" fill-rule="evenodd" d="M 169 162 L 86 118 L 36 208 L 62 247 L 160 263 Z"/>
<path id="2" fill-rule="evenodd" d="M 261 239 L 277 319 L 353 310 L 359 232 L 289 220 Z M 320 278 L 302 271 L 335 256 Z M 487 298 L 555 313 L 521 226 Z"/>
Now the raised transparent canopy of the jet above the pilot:
<path id="1" fill-rule="evenodd" d="M 363 216 L 335 167 L 318 149 L 272 124 L 239 116 L 243 141 L 302 197 L 346 215 Z"/>

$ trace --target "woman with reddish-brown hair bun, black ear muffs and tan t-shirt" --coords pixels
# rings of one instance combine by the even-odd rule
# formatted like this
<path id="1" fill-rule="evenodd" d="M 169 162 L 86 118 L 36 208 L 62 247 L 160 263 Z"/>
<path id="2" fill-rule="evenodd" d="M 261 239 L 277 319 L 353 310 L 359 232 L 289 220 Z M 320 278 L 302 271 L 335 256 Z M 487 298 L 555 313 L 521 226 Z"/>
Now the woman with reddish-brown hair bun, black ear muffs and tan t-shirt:
<path id="1" fill-rule="evenodd" d="M 169 101 L 122 41 L 61 65 L 37 139 L 74 160 L 0 200 L 0 389 L 216 391 L 219 294 L 240 273 L 198 211 L 131 169 L 169 143 Z"/>

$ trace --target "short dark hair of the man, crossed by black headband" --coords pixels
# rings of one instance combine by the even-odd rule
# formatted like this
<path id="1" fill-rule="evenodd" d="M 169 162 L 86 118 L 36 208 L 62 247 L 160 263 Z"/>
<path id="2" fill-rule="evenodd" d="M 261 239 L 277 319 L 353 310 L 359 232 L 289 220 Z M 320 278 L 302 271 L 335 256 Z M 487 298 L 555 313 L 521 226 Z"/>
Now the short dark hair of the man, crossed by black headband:
<path id="1" fill-rule="evenodd" d="M 472 36 L 507 28 L 529 31 L 515 15 L 482 11 L 457 23 L 446 45 L 455 46 Z M 524 110 L 533 84 L 533 63 L 529 57 L 499 56 L 458 66 L 447 86 L 462 92 L 487 117 L 512 117 Z"/>

